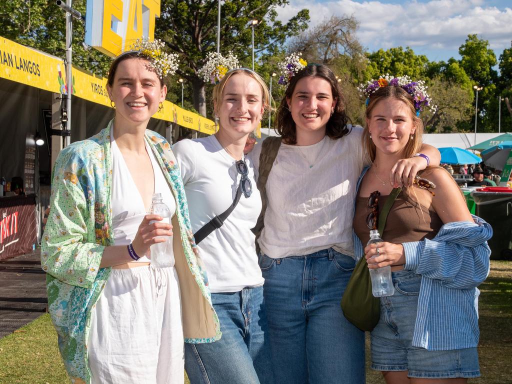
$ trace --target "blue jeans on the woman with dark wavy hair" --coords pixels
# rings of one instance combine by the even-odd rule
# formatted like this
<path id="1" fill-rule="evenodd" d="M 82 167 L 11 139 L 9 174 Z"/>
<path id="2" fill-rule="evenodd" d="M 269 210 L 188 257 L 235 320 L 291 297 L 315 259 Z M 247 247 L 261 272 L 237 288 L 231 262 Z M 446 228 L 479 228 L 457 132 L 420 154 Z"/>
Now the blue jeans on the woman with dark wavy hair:
<path id="1" fill-rule="evenodd" d="M 350 256 L 324 249 L 305 256 L 259 257 L 275 382 L 365 382 L 365 333 L 340 307 L 355 267 Z"/>

